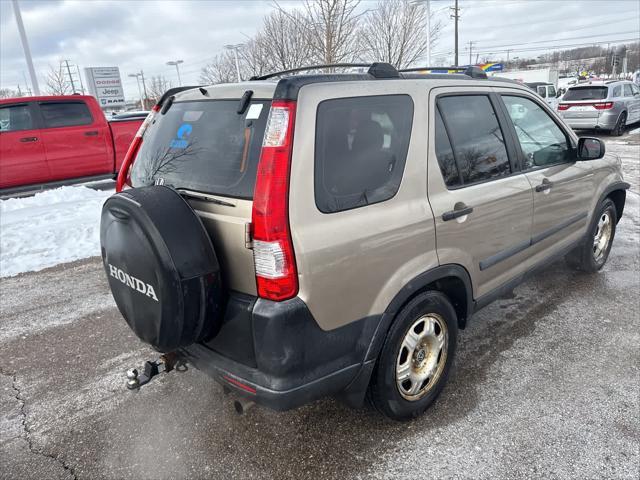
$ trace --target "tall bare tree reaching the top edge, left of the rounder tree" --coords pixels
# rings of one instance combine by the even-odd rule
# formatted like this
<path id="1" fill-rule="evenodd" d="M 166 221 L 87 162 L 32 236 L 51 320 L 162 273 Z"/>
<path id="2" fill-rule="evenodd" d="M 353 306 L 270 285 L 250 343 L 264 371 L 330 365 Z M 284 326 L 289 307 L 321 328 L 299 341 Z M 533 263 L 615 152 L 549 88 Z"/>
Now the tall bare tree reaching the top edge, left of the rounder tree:
<path id="1" fill-rule="evenodd" d="M 342 63 L 360 58 L 360 15 L 355 12 L 359 3 L 360 0 L 305 1 L 305 31 L 314 62 Z"/>

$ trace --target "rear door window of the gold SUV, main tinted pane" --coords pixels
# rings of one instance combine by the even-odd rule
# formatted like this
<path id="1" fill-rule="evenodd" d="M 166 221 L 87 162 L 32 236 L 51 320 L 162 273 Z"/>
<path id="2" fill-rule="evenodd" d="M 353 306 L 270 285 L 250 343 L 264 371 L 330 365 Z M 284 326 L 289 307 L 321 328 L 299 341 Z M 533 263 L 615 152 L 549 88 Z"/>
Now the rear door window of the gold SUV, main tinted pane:
<path id="1" fill-rule="evenodd" d="M 488 96 L 442 97 L 438 108 L 465 185 L 511 173 L 504 136 Z"/>

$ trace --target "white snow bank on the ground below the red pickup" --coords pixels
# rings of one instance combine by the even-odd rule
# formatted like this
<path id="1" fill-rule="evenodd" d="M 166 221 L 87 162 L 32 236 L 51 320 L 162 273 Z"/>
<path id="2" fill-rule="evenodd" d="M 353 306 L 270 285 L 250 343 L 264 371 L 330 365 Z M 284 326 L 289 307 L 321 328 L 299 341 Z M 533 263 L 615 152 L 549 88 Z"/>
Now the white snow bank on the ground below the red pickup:
<path id="1" fill-rule="evenodd" d="M 75 186 L 0 201 L 0 277 L 100 255 L 100 211 L 112 194 Z"/>

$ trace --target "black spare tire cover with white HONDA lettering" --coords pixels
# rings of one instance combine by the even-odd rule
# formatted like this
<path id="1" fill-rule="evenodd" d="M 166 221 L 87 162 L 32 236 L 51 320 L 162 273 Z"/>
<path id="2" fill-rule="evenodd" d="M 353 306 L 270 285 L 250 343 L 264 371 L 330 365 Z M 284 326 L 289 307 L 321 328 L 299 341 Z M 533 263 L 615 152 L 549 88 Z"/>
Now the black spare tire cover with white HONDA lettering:
<path id="1" fill-rule="evenodd" d="M 212 337 L 221 280 L 202 222 L 172 188 L 134 188 L 102 207 L 102 260 L 120 313 L 161 352 Z"/>

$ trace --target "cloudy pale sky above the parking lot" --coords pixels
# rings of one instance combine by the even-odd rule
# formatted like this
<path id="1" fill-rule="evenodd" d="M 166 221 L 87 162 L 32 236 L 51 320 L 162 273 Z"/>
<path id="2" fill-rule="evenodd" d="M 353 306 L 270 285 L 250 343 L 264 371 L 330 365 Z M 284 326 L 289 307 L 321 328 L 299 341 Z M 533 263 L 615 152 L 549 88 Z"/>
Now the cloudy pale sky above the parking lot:
<path id="1" fill-rule="evenodd" d="M 295 8 L 299 2 L 279 2 Z M 361 10 L 376 0 L 363 0 Z M 432 49 L 452 62 L 453 0 L 432 0 L 445 28 Z M 200 69 L 223 45 L 241 43 L 260 28 L 272 8 L 268 0 L 161 1 L 20 0 L 41 89 L 53 65 L 68 59 L 84 67 L 118 66 L 125 96 L 138 97 L 140 69 L 148 79 L 164 75 L 177 84 L 169 60 L 182 59 L 182 81 L 197 83 Z M 549 47 L 640 37 L 640 0 L 460 0 L 460 63 L 468 62 L 467 42 L 484 57 L 535 56 Z M 475 61 L 475 53 L 473 61 Z M 0 87 L 25 86 L 27 67 L 11 2 L 0 0 Z"/>

